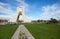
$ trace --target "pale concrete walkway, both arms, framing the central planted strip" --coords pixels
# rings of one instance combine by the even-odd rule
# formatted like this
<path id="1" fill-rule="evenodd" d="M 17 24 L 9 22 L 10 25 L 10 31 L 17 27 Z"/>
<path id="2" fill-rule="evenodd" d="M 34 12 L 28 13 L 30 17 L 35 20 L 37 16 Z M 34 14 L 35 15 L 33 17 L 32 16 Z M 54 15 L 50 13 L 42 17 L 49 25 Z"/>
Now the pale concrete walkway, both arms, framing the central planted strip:
<path id="1" fill-rule="evenodd" d="M 19 39 L 19 33 L 20 31 L 25 33 L 25 36 L 27 39 L 35 39 L 31 33 L 27 30 L 27 28 L 25 28 L 24 25 L 19 25 L 19 27 L 17 28 L 16 32 L 14 33 L 14 35 L 12 36 L 12 39 Z"/>

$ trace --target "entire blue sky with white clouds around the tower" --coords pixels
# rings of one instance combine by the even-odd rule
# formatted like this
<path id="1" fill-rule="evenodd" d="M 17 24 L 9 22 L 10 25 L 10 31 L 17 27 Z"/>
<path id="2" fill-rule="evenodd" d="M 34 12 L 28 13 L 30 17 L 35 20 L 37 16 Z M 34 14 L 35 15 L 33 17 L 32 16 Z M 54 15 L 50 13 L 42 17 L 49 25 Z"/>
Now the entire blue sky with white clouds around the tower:
<path id="1" fill-rule="evenodd" d="M 29 19 L 60 19 L 60 0 L 0 0 L 0 17 L 12 17 L 21 5 Z"/>

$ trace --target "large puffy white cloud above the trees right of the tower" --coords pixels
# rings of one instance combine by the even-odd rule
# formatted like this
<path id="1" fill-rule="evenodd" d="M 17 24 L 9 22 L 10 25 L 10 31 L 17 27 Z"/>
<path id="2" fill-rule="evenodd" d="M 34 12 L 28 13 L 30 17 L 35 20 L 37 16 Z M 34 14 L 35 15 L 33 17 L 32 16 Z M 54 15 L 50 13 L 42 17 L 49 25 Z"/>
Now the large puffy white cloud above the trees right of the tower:
<path id="1" fill-rule="evenodd" d="M 60 5 L 53 4 L 42 7 L 42 14 L 40 15 L 40 19 L 50 19 L 50 18 L 57 18 L 60 16 Z"/>

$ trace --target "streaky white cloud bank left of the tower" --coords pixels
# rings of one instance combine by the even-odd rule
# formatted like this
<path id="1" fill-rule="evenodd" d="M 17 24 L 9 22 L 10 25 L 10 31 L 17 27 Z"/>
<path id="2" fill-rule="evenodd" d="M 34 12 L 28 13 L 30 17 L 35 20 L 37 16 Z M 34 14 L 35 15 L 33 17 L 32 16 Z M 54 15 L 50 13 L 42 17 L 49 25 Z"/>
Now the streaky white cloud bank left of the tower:
<path id="1" fill-rule="evenodd" d="M 12 15 L 14 15 L 15 12 L 12 10 L 12 6 L 10 4 L 0 2 L 0 13 L 7 14 L 7 15 L 0 14 L 0 18 L 9 19 L 11 18 Z"/>

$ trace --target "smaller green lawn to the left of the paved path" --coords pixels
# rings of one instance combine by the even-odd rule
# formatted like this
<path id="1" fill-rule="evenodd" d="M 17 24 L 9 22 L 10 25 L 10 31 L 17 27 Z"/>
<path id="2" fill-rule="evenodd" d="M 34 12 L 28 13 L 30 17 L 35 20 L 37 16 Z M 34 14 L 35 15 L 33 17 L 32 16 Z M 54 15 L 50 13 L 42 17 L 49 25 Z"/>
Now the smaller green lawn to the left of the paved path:
<path id="1" fill-rule="evenodd" d="M 11 39 L 18 25 L 0 25 L 0 39 Z"/>

